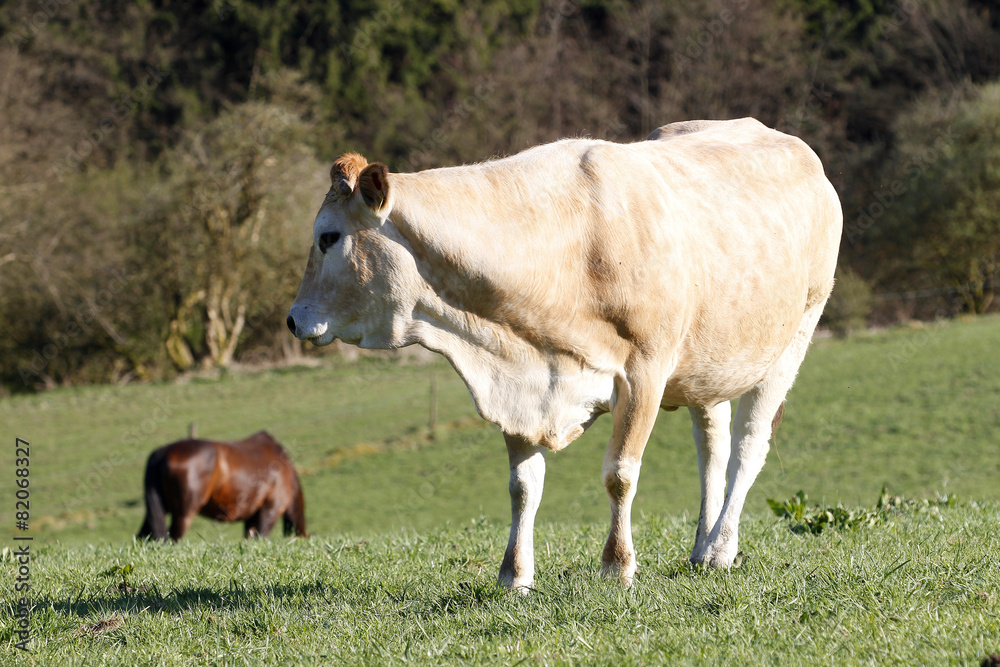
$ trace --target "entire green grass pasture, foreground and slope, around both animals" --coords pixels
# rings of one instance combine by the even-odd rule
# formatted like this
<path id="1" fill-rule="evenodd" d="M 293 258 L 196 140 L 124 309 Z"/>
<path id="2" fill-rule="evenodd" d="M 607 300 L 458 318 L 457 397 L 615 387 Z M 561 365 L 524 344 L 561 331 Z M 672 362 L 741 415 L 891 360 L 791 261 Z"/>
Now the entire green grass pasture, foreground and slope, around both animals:
<path id="1" fill-rule="evenodd" d="M 34 659 L 977 662 L 1000 652 L 997 349 L 995 317 L 817 341 L 750 494 L 748 560 L 732 572 L 682 564 L 697 463 L 689 419 L 664 413 L 643 462 L 641 574 L 629 591 L 596 577 L 610 433 L 599 420 L 549 457 L 539 591 L 527 599 L 492 584 L 509 521 L 502 437 L 443 362 L 330 361 L 5 399 L 3 469 L 13 469 L 16 437 L 31 443 Z M 198 519 L 179 545 L 134 545 L 145 457 L 191 422 L 204 437 L 266 428 L 281 441 L 314 537 L 244 543 L 239 526 Z M 767 510 L 767 498 L 800 488 L 870 506 L 883 483 L 959 502 L 818 537 L 793 534 Z M 0 497 L 13 498 L 12 475 L 0 478 Z M 12 500 L 9 512 L 13 545 Z M 16 567 L 4 561 L 9 591 Z M 0 635 L 4 664 L 12 628 Z"/>

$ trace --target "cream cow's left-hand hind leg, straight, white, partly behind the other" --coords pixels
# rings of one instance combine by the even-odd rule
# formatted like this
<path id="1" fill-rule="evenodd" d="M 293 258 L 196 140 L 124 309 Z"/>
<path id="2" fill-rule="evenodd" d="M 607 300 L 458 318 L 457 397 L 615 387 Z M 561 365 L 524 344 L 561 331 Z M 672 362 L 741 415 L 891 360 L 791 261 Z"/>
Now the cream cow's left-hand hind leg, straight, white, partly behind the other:
<path id="1" fill-rule="evenodd" d="M 729 420 L 732 409 L 729 401 L 710 408 L 692 407 L 692 432 L 698 449 L 698 472 L 701 476 L 701 512 L 698 514 L 698 532 L 694 551 L 705 549 L 715 523 L 719 520 L 726 500 L 726 465 L 729 462 Z"/>

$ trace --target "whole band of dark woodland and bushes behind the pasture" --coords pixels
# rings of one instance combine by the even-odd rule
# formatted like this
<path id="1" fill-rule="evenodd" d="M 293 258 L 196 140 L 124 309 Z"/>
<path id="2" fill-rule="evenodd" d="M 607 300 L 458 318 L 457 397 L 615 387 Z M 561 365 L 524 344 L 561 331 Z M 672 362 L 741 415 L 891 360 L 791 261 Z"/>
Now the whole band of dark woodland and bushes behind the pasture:
<path id="1" fill-rule="evenodd" d="M 4 3 L 0 394 L 313 354 L 284 318 L 345 151 L 741 116 L 840 193 L 827 326 L 997 308 L 995 1 Z"/>

